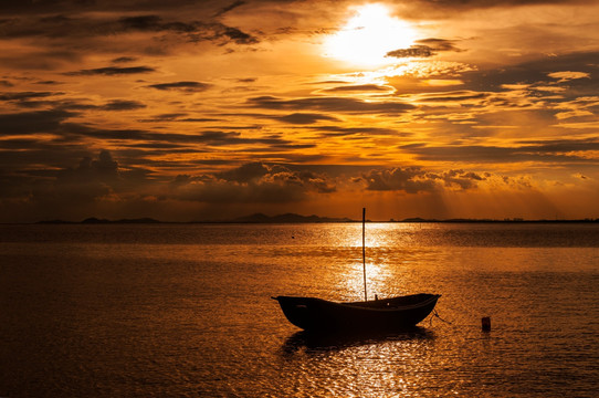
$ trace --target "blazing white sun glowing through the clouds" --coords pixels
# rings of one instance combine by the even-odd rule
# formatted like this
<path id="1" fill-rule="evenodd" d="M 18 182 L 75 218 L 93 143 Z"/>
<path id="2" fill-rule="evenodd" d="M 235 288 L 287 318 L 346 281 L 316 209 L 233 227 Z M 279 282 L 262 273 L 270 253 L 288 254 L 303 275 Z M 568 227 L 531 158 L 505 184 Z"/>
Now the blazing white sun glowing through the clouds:
<path id="1" fill-rule="evenodd" d="M 324 43 L 325 56 L 353 65 L 376 66 L 393 63 L 389 51 L 408 49 L 416 32 L 409 23 L 393 18 L 382 4 L 356 8 L 354 17 Z"/>

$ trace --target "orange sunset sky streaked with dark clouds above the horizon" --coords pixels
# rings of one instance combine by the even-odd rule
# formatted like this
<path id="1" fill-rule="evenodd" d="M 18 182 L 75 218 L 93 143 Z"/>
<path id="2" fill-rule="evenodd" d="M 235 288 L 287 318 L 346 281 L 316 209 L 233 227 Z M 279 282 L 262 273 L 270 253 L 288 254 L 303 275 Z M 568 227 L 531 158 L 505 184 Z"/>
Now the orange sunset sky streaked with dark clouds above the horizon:
<path id="1" fill-rule="evenodd" d="M 0 222 L 599 218 L 599 1 L 0 2 Z"/>

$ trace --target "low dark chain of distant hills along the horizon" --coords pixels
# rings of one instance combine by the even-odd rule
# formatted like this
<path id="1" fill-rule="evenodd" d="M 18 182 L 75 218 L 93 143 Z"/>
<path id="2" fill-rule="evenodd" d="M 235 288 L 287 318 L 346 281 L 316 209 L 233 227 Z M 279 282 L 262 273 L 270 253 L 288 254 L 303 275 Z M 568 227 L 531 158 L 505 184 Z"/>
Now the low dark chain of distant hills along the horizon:
<path id="1" fill-rule="evenodd" d="M 485 222 L 503 222 L 503 223 L 572 223 L 572 222 L 599 222 L 599 219 L 580 219 L 580 220 L 525 220 L 521 218 L 513 219 L 423 219 L 423 218 L 406 218 L 402 220 L 367 220 L 368 222 L 406 222 L 406 223 L 427 223 L 427 222 L 446 222 L 446 223 L 485 223 Z M 86 218 L 83 221 L 64 221 L 64 220 L 50 220 L 39 221 L 39 224 L 156 224 L 156 223 L 324 223 L 324 222 L 361 222 L 361 220 L 353 220 L 349 218 L 330 218 L 319 216 L 302 216 L 296 213 L 285 213 L 277 216 L 266 216 L 264 213 L 254 213 L 244 217 L 238 217 L 234 219 L 214 219 L 214 220 L 199 220 L 188 222 L 170 222 L 159 221 L 153 218 L 137 218 L 137 219 L 119 219 L 107 220 L 98 219 L 95 217 Z"/>

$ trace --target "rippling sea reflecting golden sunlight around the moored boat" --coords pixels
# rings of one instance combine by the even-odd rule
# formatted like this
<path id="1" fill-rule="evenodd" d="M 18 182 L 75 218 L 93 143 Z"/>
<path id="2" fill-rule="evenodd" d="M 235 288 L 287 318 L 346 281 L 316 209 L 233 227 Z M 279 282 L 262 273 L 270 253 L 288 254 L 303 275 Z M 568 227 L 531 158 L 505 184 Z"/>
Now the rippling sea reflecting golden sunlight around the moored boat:
<path id="1" fill-rule="evenodd" d="M 0 397 L 599 396 L 598 223 L 368 222 L 366 276 L 441 298 L 287 322 L 272 296 L 364 300 L 361 223 L 2 224 Z"/>

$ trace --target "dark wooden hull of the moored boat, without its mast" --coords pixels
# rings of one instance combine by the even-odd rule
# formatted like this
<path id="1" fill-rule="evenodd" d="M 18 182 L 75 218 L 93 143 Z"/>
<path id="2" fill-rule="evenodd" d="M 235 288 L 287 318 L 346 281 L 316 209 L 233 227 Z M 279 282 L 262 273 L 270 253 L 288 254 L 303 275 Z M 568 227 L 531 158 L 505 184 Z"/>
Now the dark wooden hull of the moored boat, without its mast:
<path id="1" fill-rule="evenodd" d="M 336 303 L 314 297 L 273 297 L 286 318 L 305 331 L 391 331 L 409 328 L 433 311 L 440 295 L 412 294 L 367 302 Z"/>

